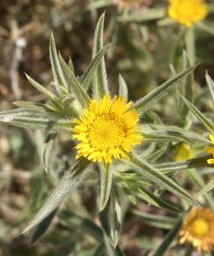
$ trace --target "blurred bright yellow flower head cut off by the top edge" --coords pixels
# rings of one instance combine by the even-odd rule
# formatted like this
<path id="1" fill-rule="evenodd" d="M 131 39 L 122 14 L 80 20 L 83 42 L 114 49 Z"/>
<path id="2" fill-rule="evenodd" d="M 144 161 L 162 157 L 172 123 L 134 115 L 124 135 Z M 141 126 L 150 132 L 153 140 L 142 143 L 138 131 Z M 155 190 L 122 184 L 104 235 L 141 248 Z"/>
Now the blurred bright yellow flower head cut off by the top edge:
<path id="1" fill-rule="evenodd" d="M 208 13 L 204 0 L 170 0 L 169 16 L 184 26 L 193 26 Z"/>

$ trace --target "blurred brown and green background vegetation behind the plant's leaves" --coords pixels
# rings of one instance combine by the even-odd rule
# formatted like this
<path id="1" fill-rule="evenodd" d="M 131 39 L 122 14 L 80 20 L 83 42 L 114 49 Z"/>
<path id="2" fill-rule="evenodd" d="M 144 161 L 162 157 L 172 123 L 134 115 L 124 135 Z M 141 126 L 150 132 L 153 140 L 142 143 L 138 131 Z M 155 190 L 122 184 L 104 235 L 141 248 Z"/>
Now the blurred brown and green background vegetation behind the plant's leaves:
<path id="1" fill-rule="evenodd" d="M 181 26 L 159 26 L 156 19 L 121 21 L 118 19 L 121 10 L 115 4 L 95 9 L 90 5 L 92 2 L 96 1 L 1 0 L 1 110 L 13 108 L 11 102 L 14 101 L 44 102 L 44 97 L 29 86 L 25 72 L 52 89 L 48 54 L 51 31 L 64 59 L 68 61 L 71 56 L 76 73 L 82 74 L 90 63 L 94 28 L 104 10 L 105 41 L 113 43 L 106 56 L 112 92 L 117 88 L 118 73 L 127 81 L 130 99 L 136 100 L 172 76 L 170 64 L 176 70 L 181 69 L 183 50 L 186 49 Z M 213 4 L 212 1 L 209 3 Z M 166 6 L 167 1 L 148 0 L 143 1 L 141 8 L 146 11 Z M 195 72 L 196 104 L 211 117 L 213 107 L 211 99 L 207 99 L 210 93 L 205 87 L 204 74 L 208 71 L 210 77 L 214 77 L 213 17 L 213 14 L 208 17 L 212 30 L 198 29 L 195 34 L 196 63 L 200 63 Z M 154 109 L 166 124 L 177 124 L 173 97 L 165 98 Z M 41 132 L 0 125 L 0 255 L 104 256 L 103 249 L 96 248 L 102 231 L 95 207 L 97 188 L 90 180 L 70 194 L 63 203 L 65 207 L 55 215 L 48 232 L 37 243 L 29 246 L 33 239 L 31 234 L 20 235 L 23 226 L 55 186 L 57 178 L 62 177 L 63 170 L 70 165 L 73 145 L 61 136 L 56 141 L 55 153 L 51 155 L 55 171 L 47 176 L 38 154 L 44 140 Z M 171 154 L 172 161 L 174 152 Z M 183 179 L 181 175 L 185 186 L 194 191 L 189 180 L 184 182 Z M 176 202 L 177 198 L 171 195 L 171 200 Z M 138 201 L 134 207 L 126 202 L 125 207 L 127 212 L 120 239 L 122 250 L 127 256 L 147 255 L 148 250 L 159 245 L 172 224 L 158 229 L 133 215 L 133 208 L 144 213 L 166 215 L 163 210 L 143 201 Z M 176 249 L 184 253 L 182 248 Z M 178 255 L 177 252 L 169 250 L 166 255 Z"/>

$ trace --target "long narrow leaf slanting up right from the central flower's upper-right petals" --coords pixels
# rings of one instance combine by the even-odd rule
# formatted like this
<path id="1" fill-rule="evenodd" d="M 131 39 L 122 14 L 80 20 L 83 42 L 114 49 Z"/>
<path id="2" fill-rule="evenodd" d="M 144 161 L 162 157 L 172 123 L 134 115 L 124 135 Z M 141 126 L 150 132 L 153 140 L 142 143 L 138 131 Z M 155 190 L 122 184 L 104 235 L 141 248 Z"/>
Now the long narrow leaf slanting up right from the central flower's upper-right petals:
<path id="1" fill-rule="evenodd" d="M 186 78 L 191 72 L 193 72 L 195 68 L 196 65 L 178 73 L 177 75 L 173 76 L 173 78 L 168 79 L 161 86 L 151 91 L 151 93 L 145 95 L 142 99 L 138 100 L 129 109 L 137 109 L 137 111 L 144 113 L 147 109 L 151 108 L 155 102 L 158 102 L 163 96 L 165 96 L 169 87 L 173 87 L 177 82 L 181 81 L 181 79 Z"/>

